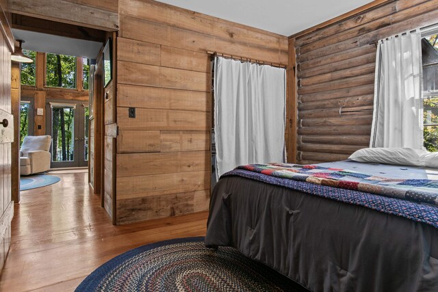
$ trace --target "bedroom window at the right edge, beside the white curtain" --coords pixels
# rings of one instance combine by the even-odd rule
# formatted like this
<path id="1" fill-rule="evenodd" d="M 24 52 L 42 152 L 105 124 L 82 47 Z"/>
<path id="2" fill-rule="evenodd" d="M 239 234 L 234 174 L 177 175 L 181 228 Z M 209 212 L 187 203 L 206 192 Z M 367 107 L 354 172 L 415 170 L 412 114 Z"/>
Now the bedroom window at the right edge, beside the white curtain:
<path id="1" fill-rule="evenodd" d="M 438 151 L 438 34 L 422 38 L 424 147 Z"/>

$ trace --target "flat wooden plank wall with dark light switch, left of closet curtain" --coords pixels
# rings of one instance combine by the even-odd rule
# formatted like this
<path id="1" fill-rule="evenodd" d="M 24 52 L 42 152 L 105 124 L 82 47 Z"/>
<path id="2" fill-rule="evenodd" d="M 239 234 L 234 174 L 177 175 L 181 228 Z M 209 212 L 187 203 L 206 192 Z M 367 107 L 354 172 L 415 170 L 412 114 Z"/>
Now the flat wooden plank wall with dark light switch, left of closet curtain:
<path id="1" fill-rule="evenodd" d="M 116 222 L 207 210 L 207 51 L 287 65 L 287 38 L 155 1 L 119 8 Z"/>

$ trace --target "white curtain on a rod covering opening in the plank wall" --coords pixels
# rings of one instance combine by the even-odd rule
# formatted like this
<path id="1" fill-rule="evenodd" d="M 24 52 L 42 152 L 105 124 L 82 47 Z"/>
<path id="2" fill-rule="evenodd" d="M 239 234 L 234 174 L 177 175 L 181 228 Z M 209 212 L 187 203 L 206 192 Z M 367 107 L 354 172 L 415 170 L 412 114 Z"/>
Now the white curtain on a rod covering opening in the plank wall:
<path id="1" fill-rule="evenodd" d="M 285 69 L 216 57 L 216 177 L 285 160 Z"/>

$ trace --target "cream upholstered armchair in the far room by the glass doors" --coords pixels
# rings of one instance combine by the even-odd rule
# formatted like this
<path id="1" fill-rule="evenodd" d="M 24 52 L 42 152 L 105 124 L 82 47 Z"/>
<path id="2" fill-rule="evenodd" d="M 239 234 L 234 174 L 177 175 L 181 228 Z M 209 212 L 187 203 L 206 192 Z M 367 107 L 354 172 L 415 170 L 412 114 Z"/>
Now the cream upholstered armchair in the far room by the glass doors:
<path id="1" fill-rule="evenodd" d="M 26 136 L 20 149 L 20 174 L 29 175 L 50 169 L 50 144 L 52 138 L 44 136 Z"/>

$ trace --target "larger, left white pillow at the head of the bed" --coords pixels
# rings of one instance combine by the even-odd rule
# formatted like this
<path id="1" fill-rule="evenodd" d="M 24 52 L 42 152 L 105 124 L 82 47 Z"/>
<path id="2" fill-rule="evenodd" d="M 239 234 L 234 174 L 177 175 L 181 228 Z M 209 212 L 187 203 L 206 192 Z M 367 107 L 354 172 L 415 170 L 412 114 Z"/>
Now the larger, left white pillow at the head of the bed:
<path id="1" fill-rule="evenodd" d="M 348 158 L 358 162 L 423 166 L 421 156 L 425 152 L 413 148 L 363 148 Z"/>

